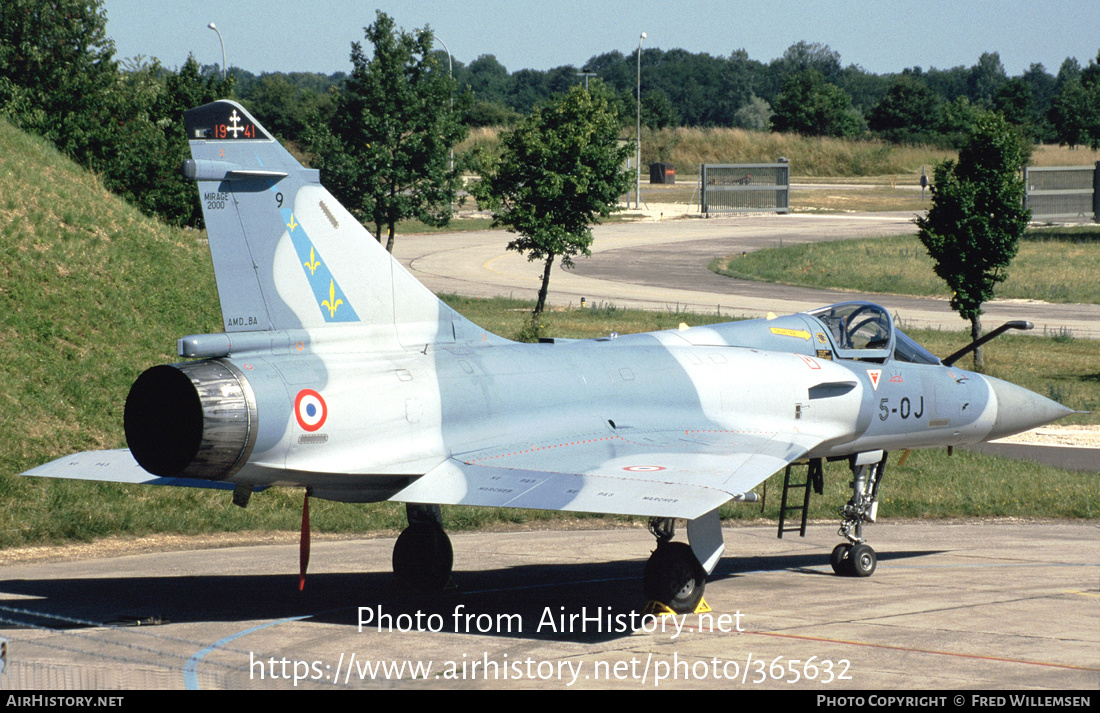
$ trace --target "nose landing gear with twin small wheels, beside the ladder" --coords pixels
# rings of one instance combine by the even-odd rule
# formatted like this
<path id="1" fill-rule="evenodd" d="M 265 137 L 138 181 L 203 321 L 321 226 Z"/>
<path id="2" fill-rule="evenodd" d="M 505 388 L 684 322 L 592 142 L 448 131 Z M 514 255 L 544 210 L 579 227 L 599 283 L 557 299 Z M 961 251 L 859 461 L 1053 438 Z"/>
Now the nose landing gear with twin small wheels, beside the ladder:
<path id="1" fill-rule="evenodd" d="M 870 577 L 878 557 L 864 540 L 864 523 L 873 523 L 879 505 L 879 484 L 886 470 L 882 451 L 860 453 L 851 459 L 851 500 L 840 509 L 844 522 L 837 535 L 847 538 L 833 549 L 829 564 L 845 577 Z"/>

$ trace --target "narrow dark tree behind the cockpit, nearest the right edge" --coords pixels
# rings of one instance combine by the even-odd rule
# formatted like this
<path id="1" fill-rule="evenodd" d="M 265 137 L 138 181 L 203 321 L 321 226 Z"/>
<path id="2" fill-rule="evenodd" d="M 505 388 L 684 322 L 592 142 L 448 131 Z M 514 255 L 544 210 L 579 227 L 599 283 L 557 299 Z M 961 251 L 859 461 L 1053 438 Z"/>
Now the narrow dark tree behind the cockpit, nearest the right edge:
<path id="1" fill-rule="evenodd" d="M 936 275 L 954 292 L 952 308 L 970 320 L 972 339 L 981 337 L 981 306 L 1008 277 L 1005 268 L 1031 220 L 1018 175 L 1026 153 L 1002 116 L 983 114 L 958 163 L 936 166 L 932 208 L 915 221 Z M 985 366 L 980 348 L 974 365 L 977 371 Z"/>

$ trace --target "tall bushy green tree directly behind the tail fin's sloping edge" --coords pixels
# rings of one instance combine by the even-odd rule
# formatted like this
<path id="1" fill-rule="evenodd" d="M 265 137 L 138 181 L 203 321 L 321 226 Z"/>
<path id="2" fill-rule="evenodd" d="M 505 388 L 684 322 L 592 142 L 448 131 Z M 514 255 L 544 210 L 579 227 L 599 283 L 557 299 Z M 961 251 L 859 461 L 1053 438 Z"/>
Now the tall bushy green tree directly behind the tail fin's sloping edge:
<path id="1" fill-rule="evenodd" d="M 332 119 L 308 132 L 307 142 L 329 190 L 374 224 L 378 242 L 385 233 L 392 252 L 399 221 L 444 226 L 451 218 L 461 176 L 449 152 L 466 134 L 463 102 L 432 53 L 430 29 L 397 31 L 380 11 L 364 33 L 374 56 L 352 43 L 352 73 Z"/>

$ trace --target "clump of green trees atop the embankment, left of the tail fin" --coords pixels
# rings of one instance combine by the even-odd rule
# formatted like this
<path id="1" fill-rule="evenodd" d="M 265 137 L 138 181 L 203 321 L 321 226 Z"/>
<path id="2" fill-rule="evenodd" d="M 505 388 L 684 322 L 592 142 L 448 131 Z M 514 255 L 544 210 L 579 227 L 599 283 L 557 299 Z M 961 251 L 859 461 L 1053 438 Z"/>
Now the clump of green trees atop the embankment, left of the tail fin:
<path id="1" fill-rule="evenodd" d="M 0 6 L 0 109 L 103 185 L 173 224 L 200 217 L 183 111 L 226 96 L 232 80 L 179 74 L 135 57 L 120 69 L 99 0 L 10 0 Z M 186 89 L 186 91 L 185 91 Z"/>

